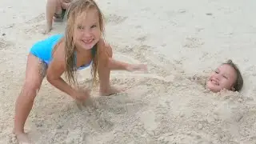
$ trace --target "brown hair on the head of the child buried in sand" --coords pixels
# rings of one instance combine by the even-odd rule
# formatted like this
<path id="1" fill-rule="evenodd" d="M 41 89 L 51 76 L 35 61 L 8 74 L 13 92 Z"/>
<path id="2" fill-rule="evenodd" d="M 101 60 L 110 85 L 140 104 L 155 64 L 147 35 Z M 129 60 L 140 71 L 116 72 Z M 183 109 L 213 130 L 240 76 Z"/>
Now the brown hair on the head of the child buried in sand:
<path id="1" fill-rule="evenodd" d="M 241 74 L 240 70 L 238 69 L 238 66 L 236 64 L 234 64 L 234 62 L 230 59 L 227 62 L 222 63 L 222 65 L 229 65 L 234 68 L 234 70 L 237 74 L 237 78 L 236 78 L 236 81 L 234 82 L 234 86 L 233 86 L 234 91 L 241 90 L 242 86 L 243 86 L 243 79 L 242 79 L 242 74 Z"/>

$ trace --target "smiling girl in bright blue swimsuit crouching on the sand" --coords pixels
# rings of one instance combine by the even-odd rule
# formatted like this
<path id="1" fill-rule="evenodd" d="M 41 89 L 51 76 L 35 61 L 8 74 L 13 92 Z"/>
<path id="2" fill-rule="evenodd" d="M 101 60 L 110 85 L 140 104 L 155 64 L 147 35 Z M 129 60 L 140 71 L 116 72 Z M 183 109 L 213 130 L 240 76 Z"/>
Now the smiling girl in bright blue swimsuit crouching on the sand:
<path id="1" fill-rule="evenodd" d="M 75 0 L 66 13 L 64 36 L 53 35 L 35 43 L 28 55 L 26 80 L 15 107 L 14 134 L 18 142 L 30 142 L 24 132 L 24 124 L 45 76 L 58 90 L 78 102 L 84 102 L 90 96 L 89 90 L 70 86 L 77 86 L 76 70 L 91 64 L 94 82 L 98 74 L 101 95 L 119 91 L 110 86 L 110 70 L 146 70 L 145 65 L 132 65 L 112 58 L 111 47 L 102 39 L 102 13 L 93 0 Z M 64 72 L 70 85 L 61 78 Z"/>

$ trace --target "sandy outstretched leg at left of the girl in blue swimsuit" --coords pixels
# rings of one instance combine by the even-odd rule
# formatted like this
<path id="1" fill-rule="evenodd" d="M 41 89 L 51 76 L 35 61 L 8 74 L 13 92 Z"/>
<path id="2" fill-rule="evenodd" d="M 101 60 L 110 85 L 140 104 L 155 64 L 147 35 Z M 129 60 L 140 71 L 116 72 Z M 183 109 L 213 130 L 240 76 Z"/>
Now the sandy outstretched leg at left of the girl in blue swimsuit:
<path id="1" fill-rule="evenodd" d="M 24 132 L 24 125 L 30 110 L 32 109 L 34 98 L 42 84 L 46 74 L 46 66 L 33 54 L 29 54 L 26 65 L 26 79 L 22 86 L 22 91 L 17 98 L 14 116 L 14 134 L 18 142 L 30 142 Z"/>

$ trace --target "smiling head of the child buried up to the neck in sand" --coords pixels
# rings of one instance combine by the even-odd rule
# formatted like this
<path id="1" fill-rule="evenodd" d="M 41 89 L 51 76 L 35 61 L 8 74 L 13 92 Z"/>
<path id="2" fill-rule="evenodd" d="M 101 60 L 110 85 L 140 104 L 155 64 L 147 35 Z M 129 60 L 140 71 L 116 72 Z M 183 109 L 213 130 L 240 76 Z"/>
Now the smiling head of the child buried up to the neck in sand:
<path id="1" fill-rule="evenodd" d="M 217 93 L 221 90 L 239 91 L 242 89 L 243 80 L 238 66 L 231 60 L 222 63 L 206 81 L 206 88 Z"/>

